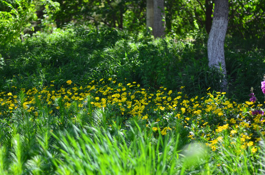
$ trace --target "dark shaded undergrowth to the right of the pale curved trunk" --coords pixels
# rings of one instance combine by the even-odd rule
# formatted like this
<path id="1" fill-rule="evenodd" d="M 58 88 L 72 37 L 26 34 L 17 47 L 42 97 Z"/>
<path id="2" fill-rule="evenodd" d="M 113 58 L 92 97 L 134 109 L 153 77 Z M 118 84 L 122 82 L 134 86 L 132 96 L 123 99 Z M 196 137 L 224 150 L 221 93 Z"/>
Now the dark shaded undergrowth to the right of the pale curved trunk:
<path id="1" fill-rule="evenodd" d="M 242 95 L 247 94 L 251 87 L 255 94 L 262 99 L 260 91 L 261 81 L 263 80 L 264 54 L 263 42 L 228 38 L 226 41 L 225 62 L 226 70 L 230 83 L 230 94 L 239 101 L 244 101 Z M 249 81 L 251 80 L 251 81 Z"/>

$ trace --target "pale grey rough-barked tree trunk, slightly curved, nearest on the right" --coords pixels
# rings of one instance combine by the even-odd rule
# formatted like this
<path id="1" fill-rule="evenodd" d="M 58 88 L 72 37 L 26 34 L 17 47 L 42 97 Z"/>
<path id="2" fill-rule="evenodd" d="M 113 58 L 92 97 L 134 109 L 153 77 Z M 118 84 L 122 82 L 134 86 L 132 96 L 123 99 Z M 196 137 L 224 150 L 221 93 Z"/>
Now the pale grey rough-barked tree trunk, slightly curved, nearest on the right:
<path id="1" fill-rule="evenodd" d="M 227 88 L 224 39 L 228 25 L 228 11 L 228 0 L 215 0 L 213 22 L 207 43 L 209 67 L 221 70 L 224 75 L 221 87 L 223 91 Z"/>

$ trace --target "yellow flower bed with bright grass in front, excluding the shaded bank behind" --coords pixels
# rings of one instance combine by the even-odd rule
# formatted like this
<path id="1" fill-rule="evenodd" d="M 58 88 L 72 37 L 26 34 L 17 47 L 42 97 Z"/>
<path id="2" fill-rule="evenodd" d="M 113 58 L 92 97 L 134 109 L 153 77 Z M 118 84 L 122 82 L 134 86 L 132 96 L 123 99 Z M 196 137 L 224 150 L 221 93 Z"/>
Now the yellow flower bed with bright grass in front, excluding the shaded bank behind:
<path id="1" fill-rule="evenodd" d="M 253 100 L 237 104 L 219 92 L 188 98 L 163 87 L 151 93 L 109 78 L 87 87 L 68 80 L 59 90 L 2 92 L 0 101 L 6 174 L 263 170 L 264 120 Z"/>

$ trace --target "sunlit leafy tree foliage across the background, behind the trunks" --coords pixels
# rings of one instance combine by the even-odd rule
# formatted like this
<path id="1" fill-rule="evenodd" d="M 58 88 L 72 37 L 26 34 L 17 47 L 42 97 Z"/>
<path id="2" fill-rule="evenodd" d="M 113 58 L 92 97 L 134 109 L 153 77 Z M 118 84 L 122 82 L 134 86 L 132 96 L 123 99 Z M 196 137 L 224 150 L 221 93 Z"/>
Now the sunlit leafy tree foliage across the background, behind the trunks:
<path id="1" fill-rule="evenodd" d="M 197 30 L 210 30 L 213 2 L 209 0 L 164 1 L 166 33 L 176 38 L 194 38 Z M 229 2 L 227 34 L 264 39 L 263 0 Z M 87 24 L 112 27 L 136 35 L 145 29 L 145 0 L 2 0 L 1 40 L 9 43 L 36 31 L 52 32 L 65 25 Z M 244 11 L 244 13 L 242 13 Z M 33 31 L 31 31 L 33 30 Z"/>

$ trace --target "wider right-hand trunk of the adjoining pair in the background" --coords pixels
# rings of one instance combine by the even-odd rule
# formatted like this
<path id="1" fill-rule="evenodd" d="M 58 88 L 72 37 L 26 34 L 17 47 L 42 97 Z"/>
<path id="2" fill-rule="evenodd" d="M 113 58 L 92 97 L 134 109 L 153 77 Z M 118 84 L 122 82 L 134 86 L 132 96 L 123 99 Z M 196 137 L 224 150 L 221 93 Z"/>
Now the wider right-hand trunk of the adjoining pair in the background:
<path id="1" fill-rule="evenodd" d="M 161 37 L 164 35 L 164 0 L 154 0 L 154 28 L 153 35 Z"/>

